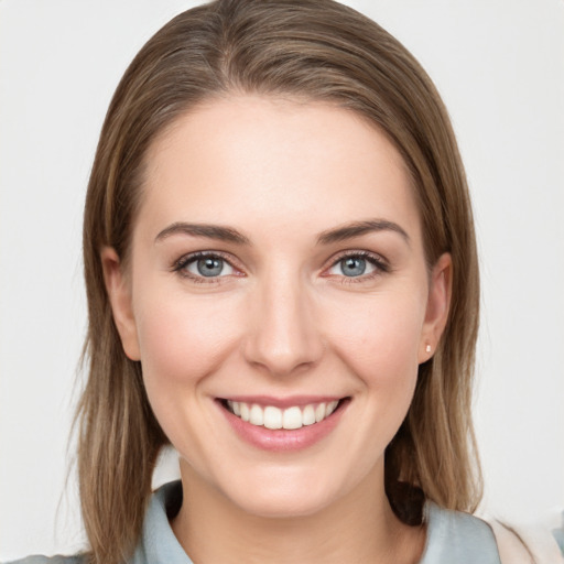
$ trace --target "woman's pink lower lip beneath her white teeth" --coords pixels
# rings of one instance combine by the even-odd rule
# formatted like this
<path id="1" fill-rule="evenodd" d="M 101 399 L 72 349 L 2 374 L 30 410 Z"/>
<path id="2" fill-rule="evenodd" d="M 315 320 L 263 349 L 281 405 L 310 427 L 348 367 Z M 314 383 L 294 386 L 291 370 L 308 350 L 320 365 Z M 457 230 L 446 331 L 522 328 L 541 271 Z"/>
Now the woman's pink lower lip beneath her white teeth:
<path id="1" fill-rule="evenodd" d="M 337 410 L 328 417 L 313 425 L 304 425 L 300 429 L 267 429 L 252 425 L 234 415 L 218 401 L 219 409 L 234 429 L 234 431 L 247 443 L 271 452 L 294 452 L 307 448 L 326 437 L 337 425 L 343 413 L 349 404 L 349 400 L 341 400 Z"/>

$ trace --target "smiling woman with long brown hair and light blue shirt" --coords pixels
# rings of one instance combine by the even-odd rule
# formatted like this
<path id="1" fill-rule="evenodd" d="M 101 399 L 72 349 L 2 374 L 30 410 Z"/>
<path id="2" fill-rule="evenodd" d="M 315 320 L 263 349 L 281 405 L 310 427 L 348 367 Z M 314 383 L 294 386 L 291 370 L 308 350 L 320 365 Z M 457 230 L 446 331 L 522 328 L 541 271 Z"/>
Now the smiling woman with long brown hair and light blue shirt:
<path id="1" fill-rule="evenodd" d="M 453 512 L 480 496 L 475 247 L 446 112 L 383 30 L 327 1 L 175 18 L 88 188 L 83 558 L 499 562 Z M 167 443 L 182 486 L 151 498 Z"/>

